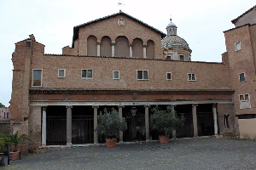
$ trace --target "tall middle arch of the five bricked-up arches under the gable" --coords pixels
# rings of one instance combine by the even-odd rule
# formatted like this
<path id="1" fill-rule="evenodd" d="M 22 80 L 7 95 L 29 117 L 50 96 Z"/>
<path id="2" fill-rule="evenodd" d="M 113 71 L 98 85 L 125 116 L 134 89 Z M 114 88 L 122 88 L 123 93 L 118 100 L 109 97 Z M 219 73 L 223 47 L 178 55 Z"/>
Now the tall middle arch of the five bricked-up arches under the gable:
<path id="1" fill-rule="evenodd" d="M 127 37 L 119 36 L 115 40 L 114 55 L 119 57 L 129 57 L 129 41 Z"/>

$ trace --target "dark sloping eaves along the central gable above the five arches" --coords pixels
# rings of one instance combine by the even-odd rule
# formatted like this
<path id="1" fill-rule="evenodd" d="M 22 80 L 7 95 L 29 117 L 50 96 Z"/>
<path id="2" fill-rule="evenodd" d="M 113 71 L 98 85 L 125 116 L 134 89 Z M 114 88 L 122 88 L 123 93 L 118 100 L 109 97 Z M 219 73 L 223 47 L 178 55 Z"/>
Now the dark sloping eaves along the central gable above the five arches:
<path id="1" fill-rule="evenodd" d="M 108 18 L 111 18 L 113 16 L 116 16 L 116 15 L 124 15 L 128 18 L 130 18 L 131 20 L 135 20 L 137 21 L 138 23 L 142 24 L 143 26 L 145 27 L 148 27 L 149 29 L 153 30 L 153 31 L 156 31 L 157 33 L 159 33 L 161 35 L 161 37 L 166 37 L 166 34 L 162 31 L 159 31 L 157 29 L 155 29 L 153 26 L 149 26 L 148 24 L 144 23 L 142 20 L 137 20 L 136 18 L 132 17 L 130 14 L 126 14 L 124 13 L 123 11 L 119 10 L 119 13 L 116 13 L 116 14 L 110 14 L 108 16 L 105 16 L 105 17 L 102 17 L 102 18 L 99 18 L 99 19 L 96 19 L 96 20 L 91 20 L 89 22 L 86 22 L 84 24 L 81 24 L 79 26 L 74 26 L 73 27 L 73 43 L 72 43 L 72 47 L 74 47 L 74 42 L 75 40 L 79 39 L 79 28 L 82 27 L 82 26 L 88 26 L 92 23 L 96 23 L 97 21 L 100 21 L 100 20 L 105 20 L 105 19 L 108 19 Z"/>

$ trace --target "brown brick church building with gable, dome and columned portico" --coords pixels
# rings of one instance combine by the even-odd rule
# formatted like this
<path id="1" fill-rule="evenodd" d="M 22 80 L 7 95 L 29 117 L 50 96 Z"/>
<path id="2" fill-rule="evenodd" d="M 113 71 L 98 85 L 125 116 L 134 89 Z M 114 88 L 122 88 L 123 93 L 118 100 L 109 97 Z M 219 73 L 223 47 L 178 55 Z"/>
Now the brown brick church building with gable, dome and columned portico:
<path id="1" fill-rule="evenodd" d="M 255 130 L 247 134 L 243 126 L 255 124 L 255 23 L 224 31 L 221 63 L 191 61 L 172 21 L 166 31 L 120 11 L 75 26 L 73 45 L 62 54 L 44 54 L 33 35 L 16 42 L 9 109 L 12 130 L 33 141 L 25 148 L 103 142 L 94 129 L 104 108 L 126 118 L 119 142 L 157 139 L 148 123 L 154 105 L 172 105 L 186 118 L 170 138 L 236 137 L 240 127 L 243 138 L 255 138 Z"/>

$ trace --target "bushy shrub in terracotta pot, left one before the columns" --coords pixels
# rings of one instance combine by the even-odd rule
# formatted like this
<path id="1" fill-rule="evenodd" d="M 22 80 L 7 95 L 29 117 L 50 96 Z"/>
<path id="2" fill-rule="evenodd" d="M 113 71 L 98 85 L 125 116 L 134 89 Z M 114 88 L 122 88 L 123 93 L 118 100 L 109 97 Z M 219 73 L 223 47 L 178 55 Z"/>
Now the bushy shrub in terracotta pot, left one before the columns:
<path id="1" fill-rule="evenodd" d="M 108 147 L 115 147 L 119 132 L 127 129 L 125 118 L 120 118 L 118 111 L 114 109 L 108 111 L 107 108 L 100 111 L 100 115 L 97 118 L 96 133 L 105 135 Z"/>

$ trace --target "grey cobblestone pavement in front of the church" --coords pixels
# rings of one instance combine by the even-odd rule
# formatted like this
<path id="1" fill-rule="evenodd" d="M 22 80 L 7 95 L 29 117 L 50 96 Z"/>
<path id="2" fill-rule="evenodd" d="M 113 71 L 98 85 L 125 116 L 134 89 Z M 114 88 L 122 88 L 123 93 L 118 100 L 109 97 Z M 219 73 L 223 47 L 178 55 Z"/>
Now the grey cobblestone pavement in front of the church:
<path id="1" fill-rule="evenodd" d="M 7 161 L 6 161 L 7 162 Z M 6 163 L 7 164 L 7 163 Z M 73 147 L 10 161 L 3 169 L 256 169 L 256 142 L 241 139 L 175 139 Z"/>

